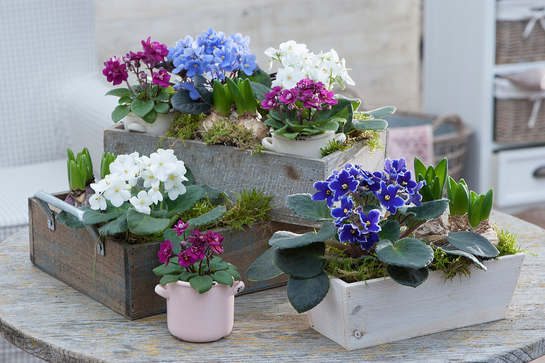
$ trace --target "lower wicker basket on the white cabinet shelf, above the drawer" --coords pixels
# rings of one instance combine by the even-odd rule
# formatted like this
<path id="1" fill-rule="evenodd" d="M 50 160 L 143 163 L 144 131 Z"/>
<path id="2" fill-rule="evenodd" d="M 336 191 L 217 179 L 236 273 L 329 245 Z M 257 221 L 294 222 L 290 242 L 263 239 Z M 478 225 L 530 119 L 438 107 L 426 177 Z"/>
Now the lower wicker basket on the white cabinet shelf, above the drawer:
<path id="1" fill-rule="evenodd" d="M 537 112 L 534 127 L 528 126 L 534 101 L 530 99 L 495 99 L 494 141 L 515 144 L 545 141 L 545 105 Z"/>

